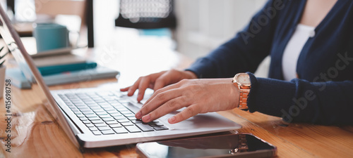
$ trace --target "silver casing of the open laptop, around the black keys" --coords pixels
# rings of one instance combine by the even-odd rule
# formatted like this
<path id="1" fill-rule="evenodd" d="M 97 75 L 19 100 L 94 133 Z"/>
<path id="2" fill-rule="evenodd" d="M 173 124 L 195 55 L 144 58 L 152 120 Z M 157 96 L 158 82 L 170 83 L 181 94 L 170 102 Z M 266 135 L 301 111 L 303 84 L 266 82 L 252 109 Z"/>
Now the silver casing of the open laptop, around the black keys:
<path id="1" fill-rule="evenodd" d="M 140 133 L 124 133 L 124 134 L 113 134 L 113 135 L 102 135 L 95 136 L 83 124 L 80 119 L 73 113 L 73 111 L 64 103 L 58 94 L 60 93 L 71 93 L 71 92 L 88 92 L 88 91 L 108 91 L 102 88 L 80 88 L 80 89 L 68 89 L 59 91 L 49 91 L 49 88 L 44 84 L 42 75 L 35 67 L 32 58 L 25 51 L 25 48 L 20 41 L 16 30 L 12 27 L 10 20 L 6 13 L 0 6 L 0 33 L 3 36 L 6 44 L 11 49 L 13 56 L 20 65 L 20 69 L 25 74 L 32 74 L 37 81 L 37 84 L 42 88 L 49 104 L 44 104 L 53 117 L 59 122 L 59 125 L 66 132 L 68 137 L 71 139 L 76 147 L 106 147 L 112 145 L 125 145 L 138 142 L 146 142 L 150 140 L 162 140 L 167 138 L 177 138 L 184 136 L 195 136 L 205 133 L 215 133 L 221 131 L 230 131 L 234 129 L 240 129 L 241 126 L 220 114 L 211 112 L 208 114 L 198 114 L 195 117 L 191 117 L 186 121 L 182 121 L 178 124 L 168 124 L 167 119 L 174 114 L 167 114 L 164 117 L 158 119 L 161 121 L 169 130 L 164 131 L 151 131 L 151 132 L 140 132 Z M 6 37 L 10 32 L 11 37 Z M 11 39 L 12 38 L 12 39 Z M 28 72 L 30 70 L 30 72 Z M 111 89 L 112 90 L 112 89 Z M 131 98 L 130 98 L 131 99 Z M 134 103 L 135 102 L 135 103 Z M 140 108 L 140 104 L 136 101 L 131 100 L 130 110 L 136 112 Z"/>

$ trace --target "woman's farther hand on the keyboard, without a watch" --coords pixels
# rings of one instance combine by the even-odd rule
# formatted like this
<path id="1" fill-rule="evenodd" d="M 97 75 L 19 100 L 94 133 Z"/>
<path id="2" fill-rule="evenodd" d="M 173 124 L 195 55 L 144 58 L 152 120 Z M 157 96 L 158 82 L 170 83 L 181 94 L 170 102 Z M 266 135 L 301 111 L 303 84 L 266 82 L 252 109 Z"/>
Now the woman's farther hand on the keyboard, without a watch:
<path id="1" fill-rule="evenodd" d="M 135 84 L 126 88 L 121 88 L 120 91 L 128 91 L 128 96 L 133 96 L 133 93 L 135 93 L 136 89 L 138 89 L 137 100 L 140 102 L 140 100 L 143 99 L 147 88 L 157 91 L 158 89 L 168 86 L 169 84 L 175 84 L 178 81 L 181 81 L 181 79 L 197 79 L 197 77 L 196 74 L 190 71 L 163 71 L 155 74 L 149 74 L 145 77 L 140 77 Z"/>

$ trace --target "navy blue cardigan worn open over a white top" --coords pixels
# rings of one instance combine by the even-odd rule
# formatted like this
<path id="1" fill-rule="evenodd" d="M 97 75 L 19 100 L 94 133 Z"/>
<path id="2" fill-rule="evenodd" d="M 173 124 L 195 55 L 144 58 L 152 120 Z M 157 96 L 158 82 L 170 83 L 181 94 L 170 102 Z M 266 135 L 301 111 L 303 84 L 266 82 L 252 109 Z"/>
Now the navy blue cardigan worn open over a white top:
<path id="1" fill-rule="evenodd" d="M 305 4 L 305 0 L 268 1 L 233 39 L 187 70 L 199 78 L 248 72 L 250 112 L 289 122 L 353 124 L 353 1 L 337 1 L 299 55 L 299 79 L 282 81 L 283 51 Z M 251 72 L 267 55 L 271 56 L 270 79 L 254 77 Z"/>

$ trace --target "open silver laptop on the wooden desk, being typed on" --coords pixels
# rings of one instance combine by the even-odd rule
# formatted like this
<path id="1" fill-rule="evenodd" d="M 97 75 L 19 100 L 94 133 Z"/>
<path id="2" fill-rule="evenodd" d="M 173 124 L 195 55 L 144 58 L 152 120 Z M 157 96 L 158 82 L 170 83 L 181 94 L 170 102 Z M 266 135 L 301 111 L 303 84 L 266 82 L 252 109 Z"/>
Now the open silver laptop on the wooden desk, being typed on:
<path id="1" fill-rule="evenodd" d="M 113 88 L 49 91 L 1 6 L 0 34 L 25 77 L 29 81 L 32 76 L 35 78 L 33 82 L 47 102 L 43 105 L 77 147 L 126 145 L 241 128 L 215 112 L 197 114 L 180 123 L 169 124 L 167 119 L 179 112 L 176 111 L 148 124 L 143 123 L 134 117 L 142 104 Z"/>

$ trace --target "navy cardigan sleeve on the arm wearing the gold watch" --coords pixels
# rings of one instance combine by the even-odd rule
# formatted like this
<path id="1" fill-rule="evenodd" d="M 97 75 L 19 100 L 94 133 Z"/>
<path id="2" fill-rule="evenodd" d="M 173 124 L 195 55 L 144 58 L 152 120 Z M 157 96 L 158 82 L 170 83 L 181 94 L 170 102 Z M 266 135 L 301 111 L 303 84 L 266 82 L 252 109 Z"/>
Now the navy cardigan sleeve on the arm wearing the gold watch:
<path id="1" fill-rule="evenodd" d="M 353 81 L 309 82 L 256 78 L 248 72 L 250 112 L 282 117 L 287 122 L 353 125 Z"/>

